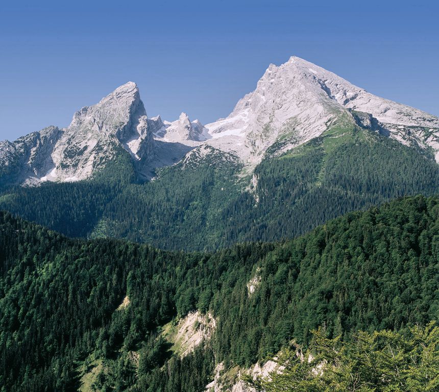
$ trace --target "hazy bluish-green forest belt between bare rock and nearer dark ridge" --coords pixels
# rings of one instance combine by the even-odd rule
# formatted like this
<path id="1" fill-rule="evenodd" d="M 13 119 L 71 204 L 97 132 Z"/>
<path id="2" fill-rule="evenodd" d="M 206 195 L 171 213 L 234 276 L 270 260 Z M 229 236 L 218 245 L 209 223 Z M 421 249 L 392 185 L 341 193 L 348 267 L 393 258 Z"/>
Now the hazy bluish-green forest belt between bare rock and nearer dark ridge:
<path id="1" fill-rule="evenodd" d="M 90 181 L 9 189 L 0 208 L 70 237 L 213 251 L 293 238 L 346 212 L 439 189 L 439 166 L 428 151 L 355 126 L 281 156 L 267 152 L 253 181 L 217 154 L 158 170 L 143 184 L 121 154 Z"/>

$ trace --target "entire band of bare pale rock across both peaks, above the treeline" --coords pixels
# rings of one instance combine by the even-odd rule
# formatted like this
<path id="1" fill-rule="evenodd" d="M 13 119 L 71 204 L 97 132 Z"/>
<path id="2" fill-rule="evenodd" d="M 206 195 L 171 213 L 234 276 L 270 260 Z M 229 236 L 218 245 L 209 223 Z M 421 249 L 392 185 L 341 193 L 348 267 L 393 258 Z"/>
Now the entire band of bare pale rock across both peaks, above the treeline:
<path id="1" fill-rule="evenodd" d="M 140 176 L 157 167 L 226 153 L 251 169 L 336 126 L 357 125 L 430 151 L 439 162 L 439 118 L 356 87 L 315 64 L 291 57 L 271 64 L 256 89 L 227 118 L 203 126 L 186 113 L 173 122 L 148 118 L 129 82 L 76 112 L 67 128 L 48 127 L 0 142 L 0 182 L 38 184 L 90 178 L 122 148 Z M 195 154 L 186 156 L 191 150 Z"/>

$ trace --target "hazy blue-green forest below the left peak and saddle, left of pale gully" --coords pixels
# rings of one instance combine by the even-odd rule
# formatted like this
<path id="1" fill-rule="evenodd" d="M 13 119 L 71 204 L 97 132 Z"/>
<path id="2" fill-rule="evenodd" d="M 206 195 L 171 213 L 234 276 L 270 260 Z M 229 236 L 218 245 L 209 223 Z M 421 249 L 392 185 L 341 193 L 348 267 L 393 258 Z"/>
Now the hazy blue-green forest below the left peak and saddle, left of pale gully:
<path id="1" fill-rule="evenodd" d="M 223 205 L 239 194 L 238 166 L 178 165 L 140 185 L 116 181 L 113 164 L 90 181 L 17 187 L 0 206 L 71 237 L 120 237 L 163 249 L 204 249 L 220 240 Z"/>

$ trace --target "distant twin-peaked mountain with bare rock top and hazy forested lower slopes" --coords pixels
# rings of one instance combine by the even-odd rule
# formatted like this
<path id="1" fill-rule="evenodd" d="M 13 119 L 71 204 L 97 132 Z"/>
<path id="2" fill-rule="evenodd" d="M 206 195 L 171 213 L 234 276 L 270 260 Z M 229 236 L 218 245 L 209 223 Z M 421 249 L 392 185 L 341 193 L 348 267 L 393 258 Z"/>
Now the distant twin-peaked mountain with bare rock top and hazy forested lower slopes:
<path id="1" fill-rule="evenodd" d="M 129 83 L 68 128 L 3 142 L 0 209 L 72 237 L 168 250 L 292 238 L 349 211 L 437 194 L 437 121 L 297 58 L 271 65 L 228 118 L 207 125 L 148 117 Z M 23 182 L 41 186 L 11 188 Z"/>

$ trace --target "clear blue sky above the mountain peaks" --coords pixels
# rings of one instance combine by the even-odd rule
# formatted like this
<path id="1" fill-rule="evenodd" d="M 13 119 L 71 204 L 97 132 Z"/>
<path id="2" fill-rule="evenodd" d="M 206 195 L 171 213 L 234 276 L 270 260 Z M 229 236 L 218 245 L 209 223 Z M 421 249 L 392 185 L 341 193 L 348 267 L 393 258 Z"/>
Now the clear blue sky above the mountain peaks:
<path id="1" fill-rule="evenodd" d="M 76 110 L 130 80 L 150 116 L 185 111 L 206 124 L 291 55 L 439 115 L 433 1 L 5 3 L 0 139 L 67 126 Z"/>

